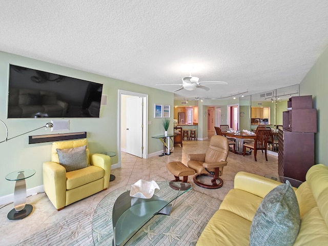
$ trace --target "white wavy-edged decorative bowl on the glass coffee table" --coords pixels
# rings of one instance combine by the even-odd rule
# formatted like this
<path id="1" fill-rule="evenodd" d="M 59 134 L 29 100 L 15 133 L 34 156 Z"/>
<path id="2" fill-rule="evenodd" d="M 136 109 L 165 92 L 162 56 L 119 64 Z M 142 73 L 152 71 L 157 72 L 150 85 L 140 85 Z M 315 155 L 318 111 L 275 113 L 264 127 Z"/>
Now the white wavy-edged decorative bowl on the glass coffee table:
<path id="1" fill-rule="evenodd" d="M 155 189 L 160 190 L 159 186 L 154 180 L 146 181 L 144 179 L 140 179 L 132 185 L 130 196 L 149 199 L 153 197 Z"/>

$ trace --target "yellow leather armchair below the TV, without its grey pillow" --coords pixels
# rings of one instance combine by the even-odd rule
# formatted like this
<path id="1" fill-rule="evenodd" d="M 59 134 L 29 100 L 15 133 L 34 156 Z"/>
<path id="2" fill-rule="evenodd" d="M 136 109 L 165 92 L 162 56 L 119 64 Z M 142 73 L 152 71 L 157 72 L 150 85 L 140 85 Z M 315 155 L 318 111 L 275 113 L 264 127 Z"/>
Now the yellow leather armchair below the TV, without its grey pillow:
<path id="1" fill-rule="evenodd" d="M 56 149 L 70 149 L 87 145 L 88 167 L 66 172 L 59 164 Z M 51 161 L 43 163 L 44 190 L 59 211 L 69 204 L 106 190 L 109 186 L 111 158 L 104 154 L 90 154 L 87 139 L 53 142 Z"/>

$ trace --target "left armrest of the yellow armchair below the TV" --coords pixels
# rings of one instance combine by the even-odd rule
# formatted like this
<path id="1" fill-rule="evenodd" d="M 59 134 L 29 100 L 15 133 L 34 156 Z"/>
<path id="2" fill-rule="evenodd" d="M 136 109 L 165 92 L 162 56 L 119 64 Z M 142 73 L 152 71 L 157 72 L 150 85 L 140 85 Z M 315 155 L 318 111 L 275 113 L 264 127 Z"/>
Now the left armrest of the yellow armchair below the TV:
<path id="1" fill-rule="evenodd" d="M 57 210 L 65 207 L 66 169 L 56 162 L 43 163 L 43 187 Z"/>

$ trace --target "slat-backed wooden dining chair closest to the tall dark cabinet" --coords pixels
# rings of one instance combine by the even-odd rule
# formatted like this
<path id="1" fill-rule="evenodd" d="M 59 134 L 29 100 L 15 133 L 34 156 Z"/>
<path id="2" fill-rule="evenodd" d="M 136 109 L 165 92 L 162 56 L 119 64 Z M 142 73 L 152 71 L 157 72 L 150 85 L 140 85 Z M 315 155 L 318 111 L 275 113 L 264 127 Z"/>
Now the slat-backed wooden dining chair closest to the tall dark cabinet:
<path id="1" fill-rule="evenodd" d="M 249 148 L 251 150 L 254 150 L 254 159 L 256 160 L 256 154 L 258 150 L 261 150 L 263 153 L 265 153 L 265 160 L 268 161 L 268 156 L 267 156 L 267 146 L 268 146 L 268 137 L 271 132 L 271 130 L 266 130 L 265 128 L 262 129 L 256 129 L 256 137 L 254 144 L 246 144 L 244 143 L 243 148 L 242 148 L 242 155 L 245 156 L 246 154 L 246 148 Z"/>

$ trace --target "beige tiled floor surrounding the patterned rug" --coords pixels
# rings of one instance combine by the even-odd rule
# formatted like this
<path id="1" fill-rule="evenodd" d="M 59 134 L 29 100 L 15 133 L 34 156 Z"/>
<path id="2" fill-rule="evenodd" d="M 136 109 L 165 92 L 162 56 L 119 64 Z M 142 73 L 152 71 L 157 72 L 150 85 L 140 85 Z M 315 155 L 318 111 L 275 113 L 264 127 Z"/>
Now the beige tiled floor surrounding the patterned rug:
<path id="1" fill-rule="evenodd" d="M 15 243 L 29 234 L 57 223 L 62 218 L 74 216 L 74 214 L 80 213 L 81 211 L 95 208 L 98 202 L 109 192 L 128 183 L 134 183 L 139 179 L 156 180 L 156 176 L 162 176 L 172 180 L 174 177 L 168 172 L 166 163 L 170 161 L 181 161 L 187 164 L 189 160 L 188 154 L 204 153 L 208 145 L 209 141 L 183 141 L 183 148 L 180 145 L 175 145 L 174 152 L 171 155 L 156 156 L 148 159 L 141 159 L 127 153 L 122 153 L 122 167 L 112 170 L 112 174 L 116 176 L 116 179 L 110 182 L 108 190 L 75 202 L 59 212 L 52 206 L 45 193 L 27 198 L 27 202 L 33 206 L 32 214 L 19 221 L 7 219 L 7 214 L 13 207 L 12 203 L 5 207 L 0 206 L 1 244 L 8 245 Z M 233 188 L 233 179 L 238 171 L 252 172 L 262 176 L 265 174 L 277 175 L 277 162 L 277 157 L 272 155 L 268 155 L 268 161 L 265 161 L 264 154 L 261 152 L 257 153 L 257 161 L 254 160 L 253 155 L 242 156 L 230 152 L 228 166 L 224 167 L 223 175 L 221 176 L 224 183 L 220 189 L 208 190 L 198 186 L 193 187 L 200 192 L 223 199 L 228 191 Z M 189 181 L 193 182 L 192 176 L 189 176 Z"/>

